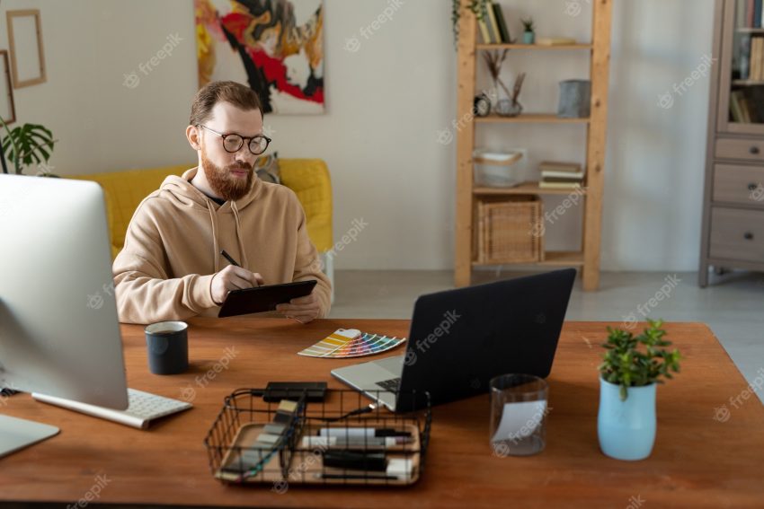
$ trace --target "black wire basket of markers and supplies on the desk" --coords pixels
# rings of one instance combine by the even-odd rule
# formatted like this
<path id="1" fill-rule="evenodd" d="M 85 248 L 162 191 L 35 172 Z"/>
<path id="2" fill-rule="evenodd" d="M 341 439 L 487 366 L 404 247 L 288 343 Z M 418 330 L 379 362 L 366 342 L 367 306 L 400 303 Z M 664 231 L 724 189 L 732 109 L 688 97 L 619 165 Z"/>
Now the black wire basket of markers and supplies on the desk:
<path id="1" fill-rule="evenodd" d="M 384 392 L 389 396 L 369 396 Z M 232 392 L 204 439 L 209 468 L 222 482 L 282 492 L 300 484 L 408 486 L 422 477 L 432 420 L 429 393 L 396 393 L 396 408 L 402 401 L 411 408 L 396 412 L 352 390 L 326 391 L 320 402 L 307 401 L 306 394 L 290 398 L 291 411 L 264 394 Z"/>

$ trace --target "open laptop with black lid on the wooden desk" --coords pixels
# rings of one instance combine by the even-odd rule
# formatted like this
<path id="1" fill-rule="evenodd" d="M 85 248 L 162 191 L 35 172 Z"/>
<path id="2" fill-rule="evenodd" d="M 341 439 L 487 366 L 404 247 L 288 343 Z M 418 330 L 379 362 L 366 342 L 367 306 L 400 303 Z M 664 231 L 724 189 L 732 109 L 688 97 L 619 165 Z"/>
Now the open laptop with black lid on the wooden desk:
<path id="1" fill-rule="evenodd" d="M 422 295 L 405 355 L 332 375 L 393 411 L 422 408 L 425 392 L 431 405 L 487 392 L 488 382 L 504 373 L 546 378 L 575 274 L 565 268 Z"/>

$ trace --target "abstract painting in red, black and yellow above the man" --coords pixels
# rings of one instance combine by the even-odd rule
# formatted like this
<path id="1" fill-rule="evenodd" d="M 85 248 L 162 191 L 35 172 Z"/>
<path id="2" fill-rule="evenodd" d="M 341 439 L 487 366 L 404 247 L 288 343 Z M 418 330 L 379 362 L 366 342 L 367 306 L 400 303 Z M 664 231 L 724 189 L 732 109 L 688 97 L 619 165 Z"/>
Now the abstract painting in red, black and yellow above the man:
<path id="1" fill-rule="evenodd" d="M 324 112 L 323 0 L 194 0 L 199 85 L 249 84 L 263 113 Z"/>

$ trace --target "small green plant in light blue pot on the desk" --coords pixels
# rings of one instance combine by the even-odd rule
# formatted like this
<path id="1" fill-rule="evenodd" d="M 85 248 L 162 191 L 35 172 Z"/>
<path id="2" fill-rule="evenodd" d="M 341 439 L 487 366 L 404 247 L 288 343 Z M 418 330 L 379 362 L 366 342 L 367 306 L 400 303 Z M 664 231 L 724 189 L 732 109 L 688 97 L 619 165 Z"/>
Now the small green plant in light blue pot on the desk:
<path id="1" fill-rule="evenodd" d="M 600 364 L 600 449 L 617 460 L 644 460 L 655 443 L 655 388 L 680 371 L 680 353 L 667 347 L 662 320 L 649 320 L 638 336 L 608 328 Z"/>

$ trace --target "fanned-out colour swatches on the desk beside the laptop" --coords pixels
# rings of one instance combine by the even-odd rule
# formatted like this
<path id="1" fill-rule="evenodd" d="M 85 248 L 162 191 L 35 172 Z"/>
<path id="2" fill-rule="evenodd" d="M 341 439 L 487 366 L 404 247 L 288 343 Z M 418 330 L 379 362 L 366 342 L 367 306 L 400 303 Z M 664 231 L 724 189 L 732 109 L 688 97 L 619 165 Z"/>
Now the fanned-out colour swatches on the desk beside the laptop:
<path id="1" fill-rule="evenodd" d="M 388 338 L 358 329 L 337 329 L 312 347 L 298 352 L 308 357 L 347 358 L 375 355 L 402 344 L 406 338 Z"/>

